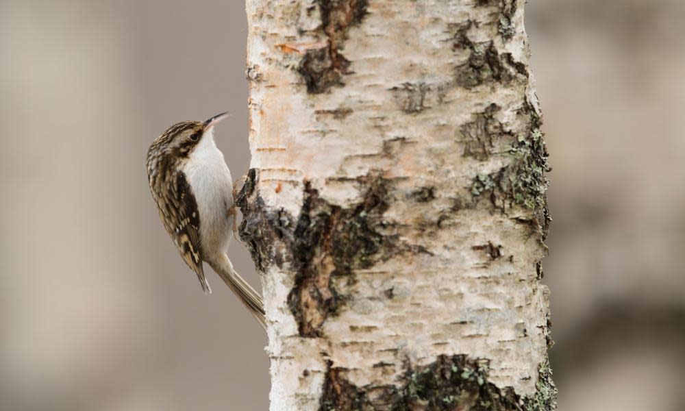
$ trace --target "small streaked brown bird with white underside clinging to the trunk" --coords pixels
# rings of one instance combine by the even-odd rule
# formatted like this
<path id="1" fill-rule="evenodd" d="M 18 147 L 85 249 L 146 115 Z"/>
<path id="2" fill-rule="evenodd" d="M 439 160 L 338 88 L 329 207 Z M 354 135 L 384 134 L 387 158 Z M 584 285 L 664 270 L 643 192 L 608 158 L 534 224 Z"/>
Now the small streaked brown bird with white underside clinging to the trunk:
<path id="1" fill-rule="evenodd" d="M 226 117 L 221 113 L 166 129 L 147 151 L 147 176 L 162 224 L 204 292 L 212 292 L 203 271 L 206 262 L 266 329 L 262 297 L 226 254 L 236 232 L 235 190 L 214 142 L 214 126 Z"/>

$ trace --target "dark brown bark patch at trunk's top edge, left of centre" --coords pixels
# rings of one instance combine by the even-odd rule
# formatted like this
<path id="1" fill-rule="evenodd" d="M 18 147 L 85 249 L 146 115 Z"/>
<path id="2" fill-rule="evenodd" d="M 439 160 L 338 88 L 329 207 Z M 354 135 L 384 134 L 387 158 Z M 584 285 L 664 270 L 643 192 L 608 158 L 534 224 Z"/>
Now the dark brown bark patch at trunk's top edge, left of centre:
<path id="1" fill-rule="evenodd" d="M 307 92 L 320 94 L 332 86 L 341 85 L 349 73 L 350 62 L 340 53 L 349 27 L 359 24 L 366 14 L 367 0 L 317 0 L 321 28 L 327 36 L 327 46 L 306 51 L 299 73 L 307 84 Z"/>

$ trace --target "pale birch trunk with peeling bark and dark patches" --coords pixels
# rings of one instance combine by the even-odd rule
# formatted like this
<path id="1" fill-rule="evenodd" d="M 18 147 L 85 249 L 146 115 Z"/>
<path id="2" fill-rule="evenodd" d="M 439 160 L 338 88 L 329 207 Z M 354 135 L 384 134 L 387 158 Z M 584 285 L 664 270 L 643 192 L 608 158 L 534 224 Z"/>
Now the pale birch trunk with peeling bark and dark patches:
<path id="1" fill-rule="evenodd" d="M 523 0 L 247 0 L 271 410 L 552 410 Z"/>

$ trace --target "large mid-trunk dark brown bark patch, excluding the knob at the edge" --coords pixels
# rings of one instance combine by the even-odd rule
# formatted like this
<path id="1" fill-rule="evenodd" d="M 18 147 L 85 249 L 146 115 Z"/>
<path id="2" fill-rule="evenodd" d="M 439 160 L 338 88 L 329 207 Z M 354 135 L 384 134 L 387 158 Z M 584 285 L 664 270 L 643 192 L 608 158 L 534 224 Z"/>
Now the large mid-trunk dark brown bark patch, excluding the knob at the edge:
<path id="1" fill-rule="evenodd" d="M 382 234 L 391 225 L 382 218 L 393 197 L 390 180 L 367 175 L 357 181 L 364 195 L 349 208 L 325 202 L 310 184 L 305 185 L 293 245 L 297 275 L 288 295 L 301 336 L 321 336 L 327 317 L 345 301 L 334 289 L 332 277 L 351 275 L 355 269 L 369 268 L 397 253 L 427 252 L 402 242 L 397 234 Z"/>

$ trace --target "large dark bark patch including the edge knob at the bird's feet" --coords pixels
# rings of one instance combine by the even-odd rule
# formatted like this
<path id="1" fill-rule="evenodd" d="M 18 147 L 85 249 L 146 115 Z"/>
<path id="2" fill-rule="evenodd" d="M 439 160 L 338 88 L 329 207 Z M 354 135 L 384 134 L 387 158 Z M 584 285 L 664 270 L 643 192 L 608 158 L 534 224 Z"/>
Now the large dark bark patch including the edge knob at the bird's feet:
<path id="1" fill-rule="evenodd" d="M 258 269 L 270 264 L 291 264 L 295 286 L 288 307 L 301 336 L 321 335 L 321 326 L 346 299 L 332 279 L 349 276 L 399 253 L 429 253 L 401 240 L 393 223 L 383 218 L 395 195 L 392 180 L 372 173 L 354 179 L 362 189 L 360 201 L 348 207 L 327 203 L 305 183 L 303 206 L 297 219 L 284 210 L 267 212 L 251 169 L 236 199 L 243 214 L 240 237 L 245 241 Z"/>

